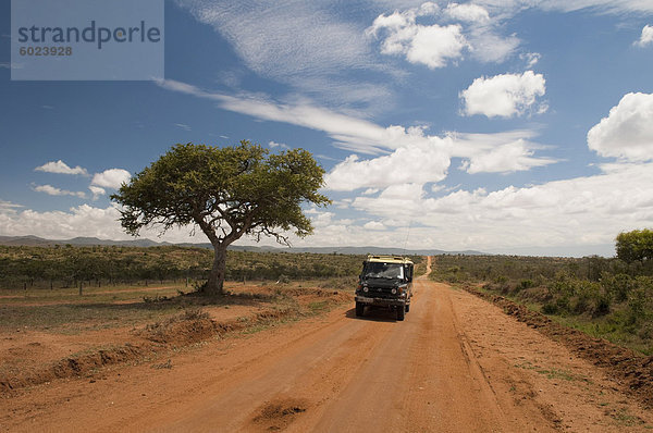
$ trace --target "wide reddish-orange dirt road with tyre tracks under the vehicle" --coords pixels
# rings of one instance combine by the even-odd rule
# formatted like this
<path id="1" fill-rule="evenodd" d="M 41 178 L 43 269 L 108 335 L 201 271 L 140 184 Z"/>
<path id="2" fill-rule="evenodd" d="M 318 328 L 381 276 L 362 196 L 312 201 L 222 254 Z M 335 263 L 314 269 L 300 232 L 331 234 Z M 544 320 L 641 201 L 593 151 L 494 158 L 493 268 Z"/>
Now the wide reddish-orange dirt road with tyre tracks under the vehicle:
<path id="1" fill-rule="evenodd" d="M 498 308 L 420 279 L 404 322 L 353 306 L 169 362 L 0 400 L 5 431 L 624 432 L 653 416 Z"/>

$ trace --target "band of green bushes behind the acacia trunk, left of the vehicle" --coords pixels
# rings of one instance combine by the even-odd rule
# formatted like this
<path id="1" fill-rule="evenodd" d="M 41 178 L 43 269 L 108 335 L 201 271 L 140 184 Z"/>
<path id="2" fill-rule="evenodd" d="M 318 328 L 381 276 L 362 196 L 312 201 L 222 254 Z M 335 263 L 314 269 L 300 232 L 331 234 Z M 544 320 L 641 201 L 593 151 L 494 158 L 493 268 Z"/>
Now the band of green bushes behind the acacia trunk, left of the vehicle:
<path id="1" fill-rule="evenodd" d="M 230 250 L 227 281 L 357 275 L 362 256 Z M 0 246 L 1 288 L 189 284 L 206 280 L 213 251 L 195 247 Z"/>

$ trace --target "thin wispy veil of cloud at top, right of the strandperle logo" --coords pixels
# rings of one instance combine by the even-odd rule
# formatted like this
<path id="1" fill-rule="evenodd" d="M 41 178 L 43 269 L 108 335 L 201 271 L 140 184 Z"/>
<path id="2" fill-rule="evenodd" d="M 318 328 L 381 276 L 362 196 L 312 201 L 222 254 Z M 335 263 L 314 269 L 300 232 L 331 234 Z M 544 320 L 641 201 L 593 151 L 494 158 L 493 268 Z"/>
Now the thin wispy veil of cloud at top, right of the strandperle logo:
<path id="1" fill-rule="evenodd" d="M 372 109 L 386 102 L 384 83 L 346 78 L 348 71 L 389 72 L 389 67 L 374 60 L 362 28 L 344 20 L 346 11 L 341 8 L 301 0 L 177 0 L 177 4 L 220 33 L 258 75 L 337 106 L 359 104 L 361 99 L 352 99 L 352 92 Z"/>

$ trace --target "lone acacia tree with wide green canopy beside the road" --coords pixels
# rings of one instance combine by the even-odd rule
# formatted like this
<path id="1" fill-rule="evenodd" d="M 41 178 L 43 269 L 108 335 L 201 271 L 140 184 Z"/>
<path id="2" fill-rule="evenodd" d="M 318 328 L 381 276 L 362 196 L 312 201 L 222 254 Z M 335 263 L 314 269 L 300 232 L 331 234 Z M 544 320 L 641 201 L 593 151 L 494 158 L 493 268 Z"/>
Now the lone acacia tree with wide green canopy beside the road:
<path id="1" fill-rule="evenodd" d="M 323 175 L 303 149 L 270 154 L 247 140 L 224 148 L 175 145 L 111 199 L 122 205 L 121 224 L 133 236 L 145 226 L 159 226 L 161 234 L 173 226 L 199 227 L 214 250 L 204 292 L 220 294 L 226 248 L 234 240 L 243 235 L 257 242 L 272 236 L 289 245 L 284 233 L 294 230 L 299 237 L 312 233 L 300 205 L 330 203 L 318 193 Z"/>

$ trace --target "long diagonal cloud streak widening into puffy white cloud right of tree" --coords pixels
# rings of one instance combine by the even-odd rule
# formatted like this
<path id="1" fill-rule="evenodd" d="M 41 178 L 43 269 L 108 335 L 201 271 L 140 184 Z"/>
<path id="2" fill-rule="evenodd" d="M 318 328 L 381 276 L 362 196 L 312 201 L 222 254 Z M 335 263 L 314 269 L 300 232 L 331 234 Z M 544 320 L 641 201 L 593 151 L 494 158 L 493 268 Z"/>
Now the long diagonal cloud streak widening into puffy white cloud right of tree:
<path id="1" fill-rule="evenodd" d="M 532 132 L 513 132 L 504 134 L 466 134 L 456 136 L 453 146 L 452 136 L 438 137 L 424 134 L 419 126 L 405 128 L 391 125 L 383 127 L 372 122 L 337 113 L 324 108 L 308 104 L 281 104 L 259 97 L 226 96 L 208 92 L 195 86 L 161 81 L 158 85 L 173 91 L 181 91 L 198 98 L 214 100 L 222 109 L 255 116 L 257 119 L 285 122 L 294 125 L 322 131 L 329 134 L 334 146 L 354 150 L 358 153 L 382 154 L 379 158 L 362 160 L 357 154 L 349 156 L 336 164 L 326 175 L 326 183 L 335 190 L 354 190 L 362 187 L 384 187 L 392 183 L 439 182 L 446 176 L 451 157 L 480 158 L 494 147 L 518 139 L 532 138 Z M 515 150 L 513 146 L 513 150 Z M 503 172 L 528 170 L 530 166 L 553 162 L 533 157 L 534 144 L 523 143 L 523 158 L 506 166 Z M 517 163 L 518 162 L 518 163 Z M 477 164 L 481 170 L 479 164 Z M 404 169 L 402 169 L 404 168 Z M 493 170 L 497 170 L 496 164 Z M 389 175 L 392 173 L 393 175 Z M 396 175 L 396 178 L 393 177 Z"/>

